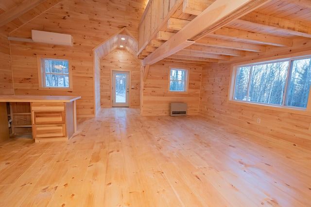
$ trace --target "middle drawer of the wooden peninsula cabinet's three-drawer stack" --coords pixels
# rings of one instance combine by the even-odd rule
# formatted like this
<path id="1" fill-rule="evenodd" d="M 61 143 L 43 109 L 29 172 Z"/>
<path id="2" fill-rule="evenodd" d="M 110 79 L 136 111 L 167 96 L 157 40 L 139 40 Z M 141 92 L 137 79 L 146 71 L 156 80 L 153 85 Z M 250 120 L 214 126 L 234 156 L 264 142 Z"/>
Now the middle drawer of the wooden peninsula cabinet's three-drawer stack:
<path id="1" fill-rule="evenodd" d="M 64 111 L 34 111 L 34 124 L 64 124 Z"/>

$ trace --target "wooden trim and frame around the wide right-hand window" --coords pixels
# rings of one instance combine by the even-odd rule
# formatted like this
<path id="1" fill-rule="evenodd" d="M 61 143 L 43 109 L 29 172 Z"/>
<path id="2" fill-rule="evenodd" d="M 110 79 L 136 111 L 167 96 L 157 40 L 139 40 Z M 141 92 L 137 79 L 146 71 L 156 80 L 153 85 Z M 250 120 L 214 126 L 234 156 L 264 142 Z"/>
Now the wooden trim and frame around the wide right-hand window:
<path id="1" fill-rule="evenodd" d="M 258 65 L 258 64 L 270 64 L 270 63 L 276 63 L 281 61 L 294 61 L 294 60 L 301 60 L 301 59 L 307 59 L 311 58 L 311 55 L 302 55 L 302 56 L 290 56 L 288 58 L 279 58 L 279 59 L 268 59 L 268 60 L 259 60 L 258 62 L 254 61 L 247 61 L 243 63 L 235 63 L 231 64 L 231 72 L 230 72 L 230 80 L 229 80 L 229 90 L 228 90 L 228 103 L 243 105 L 243 106 L 254 106 L 262 109 L 267 110 L 275 110 L 275 111 L 283 111 L 283 112 L 290 112 L 290 113 L 296 113 L 296 114 L 302 114 L 302 115 L 311 115 L 311 87 L 309 90 L 309 98 L 306 108 L 301 107 L 293 107 L 293 106 L 285 106 L 285 105 L 275 105 L 275 104 L 267 104 L 267 103 L 260 103 L 260 102 L 250 102 L 250 101 L 243 101 L 243 100 L 235 100 L 234 99 L 234 90 L 235 90 L 235 81 L 236 81 L 236 73 L 238 67 L 243 66 L 250 66 L 250 65 Z M 291 66 L 291 64 L 290 64 Z M 288 71 L 289 73 L 289 71 Z M 286 85 L 288 84 L 287 77 Z M 286 91 L 287 93 L 287 91 Z M 285 97 L 284 97 L 285 98 Z"/>

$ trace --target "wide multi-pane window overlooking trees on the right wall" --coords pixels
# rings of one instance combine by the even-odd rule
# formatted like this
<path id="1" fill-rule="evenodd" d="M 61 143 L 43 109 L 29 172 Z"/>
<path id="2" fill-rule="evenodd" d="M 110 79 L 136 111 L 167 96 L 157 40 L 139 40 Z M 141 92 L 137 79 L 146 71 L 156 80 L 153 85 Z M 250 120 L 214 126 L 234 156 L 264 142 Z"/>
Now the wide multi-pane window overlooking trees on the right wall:
<path id="1" fill-rule="evenodd" d="M 307 108 L 311 57 L 236 67 L 233 100 Z"/>

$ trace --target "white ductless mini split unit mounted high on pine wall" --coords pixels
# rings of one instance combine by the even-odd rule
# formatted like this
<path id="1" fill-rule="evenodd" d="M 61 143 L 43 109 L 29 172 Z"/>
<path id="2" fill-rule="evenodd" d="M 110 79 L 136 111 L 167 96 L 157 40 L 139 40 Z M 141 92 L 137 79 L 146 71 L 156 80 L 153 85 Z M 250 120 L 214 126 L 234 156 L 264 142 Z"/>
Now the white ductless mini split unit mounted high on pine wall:
<path id="1" fill-rule="evenodd" d="M 45 32 L 32 30 L 32 39 L 37 43 L 47 43 L 52 45 L 72 46 L 72 36 L 55 32 Z"/>

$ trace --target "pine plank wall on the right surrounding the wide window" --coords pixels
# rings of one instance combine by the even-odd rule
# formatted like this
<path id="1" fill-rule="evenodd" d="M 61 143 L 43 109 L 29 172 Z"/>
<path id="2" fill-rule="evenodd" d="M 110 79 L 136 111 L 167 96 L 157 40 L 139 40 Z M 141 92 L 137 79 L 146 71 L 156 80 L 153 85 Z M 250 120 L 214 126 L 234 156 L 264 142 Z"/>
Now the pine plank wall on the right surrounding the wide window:
<path id="1" fill-rule="evenodd" d="M 310 44 L 311 42 L 300 42 L 291 49 L 271 50 L 264 55 L 259 55 L 258 60 L 267 60 L 275 56 L 281 58 L 311 54 Z M 254 58 L 250 57 L 246 61 L 252 59 Z M 234 63 L 236 62 L 237 60 Z M 230 70 L 231 64 L 209 64 L 203 67 L 200 114 L 230 128 L 242 130 L 286 147 L 296 146 L 310 150 L 311 116 L 277 111 L 273 107 L 267 109 L 253 104 L 246 106 L 228 102 Z M 260 123 L 257 123 L 258 118 Z"/>

